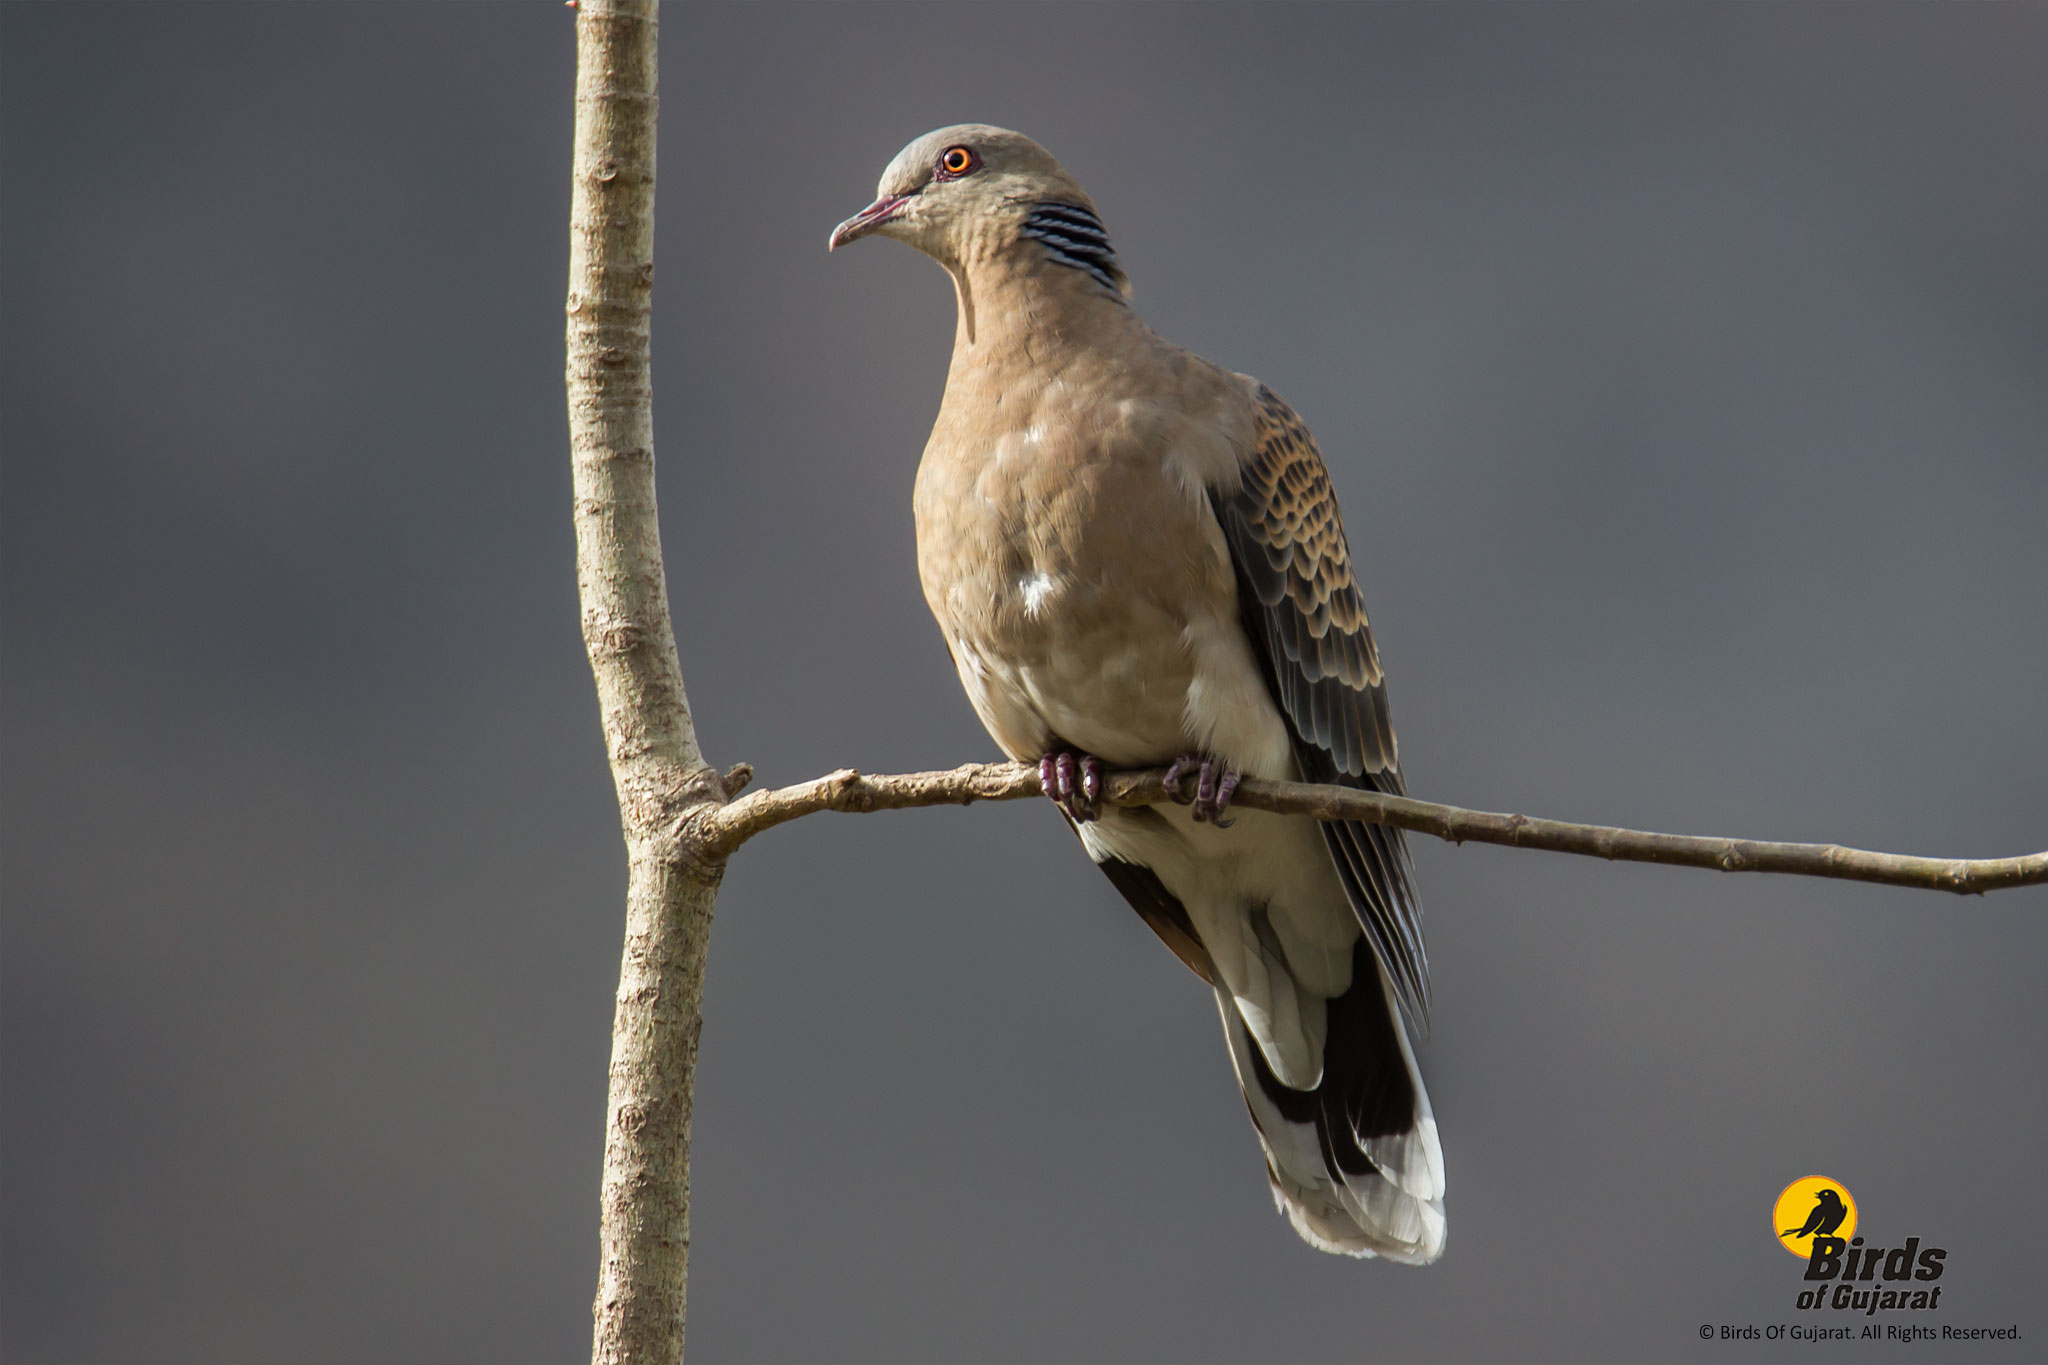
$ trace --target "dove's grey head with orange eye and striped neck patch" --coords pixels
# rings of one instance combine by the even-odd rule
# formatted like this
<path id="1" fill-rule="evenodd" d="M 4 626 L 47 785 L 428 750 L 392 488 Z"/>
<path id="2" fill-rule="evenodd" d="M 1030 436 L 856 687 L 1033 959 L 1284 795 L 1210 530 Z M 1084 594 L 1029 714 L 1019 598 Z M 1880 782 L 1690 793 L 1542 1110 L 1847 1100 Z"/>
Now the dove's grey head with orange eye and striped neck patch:
<path id="1" fill-rule="evenodd" d="M 895 237 L 956 278 L 987 262 L 1069 266 L 1090 287 L 1130 284 L 1096 205 L 1053 153 L 1022 133 L 956 123 L 897 151 L 874 203 L 831 229 L 827 250 Z"/>

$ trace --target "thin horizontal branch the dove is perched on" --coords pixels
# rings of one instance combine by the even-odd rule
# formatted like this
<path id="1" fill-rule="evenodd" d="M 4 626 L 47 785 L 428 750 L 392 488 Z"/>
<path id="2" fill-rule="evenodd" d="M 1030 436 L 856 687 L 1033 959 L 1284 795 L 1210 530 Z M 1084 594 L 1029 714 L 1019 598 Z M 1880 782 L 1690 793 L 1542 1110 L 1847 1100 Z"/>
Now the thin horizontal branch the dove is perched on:
<path id="1" fill-rule="evenodd" d="M 1167 800 L 1165 769 L 1161 767 L 1106 774 L 1102 788 L 1102 800 L 1112 806 L 1151 806 Z M 1028 763 L 967 763 L 952 772 L 883 778 L 868 778 L 848 767 L 815 782 L 754 792 L 727 806 L 709 806 L 702 814 L 702 839 L 707 851 L 727 855 L 764 829 L 774 829 L 813 810 L 967 806 L 977 800 L 1022 800 L 1038 794 L 1038 769 Z M 1788 872 L 1970 894 L 2048 884 L 2048 851 L 2023 857 L 1915 857 L 1911 853 L 1845 849 L 1839 843 L 1659 835 L 1642 829 L 1462 810 L 1440 806 L 1434 800 L 1343 786 L 1262 782 L 1257 778 L 1245 778 L 1231 804 L 1280 814 L 1313 814 L 1319 821 L 1393 825 L 1452 843 L 1503 843 L 1516 849 L 1548 849 L 1614 862 L 1675 864 L 1718 872 Z"/>

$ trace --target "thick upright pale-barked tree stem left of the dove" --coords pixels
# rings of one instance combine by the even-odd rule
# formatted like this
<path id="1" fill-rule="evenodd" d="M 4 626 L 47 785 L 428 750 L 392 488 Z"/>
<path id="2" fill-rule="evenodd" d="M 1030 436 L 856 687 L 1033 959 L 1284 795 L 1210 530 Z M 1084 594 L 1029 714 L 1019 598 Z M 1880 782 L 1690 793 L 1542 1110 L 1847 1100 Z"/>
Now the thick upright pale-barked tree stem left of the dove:
<path id="1" fill-rule="evenodd" d="M 569 209 L 569 450 L 584 645 L 627 843 L 627 935 L 604 1115 L 594 1361 L 680 1361 L 690 1087 L 723 860 L 692 810 L 705 763 L 676 663 L 653 495 L 655 0 L 584 0 Z"/>

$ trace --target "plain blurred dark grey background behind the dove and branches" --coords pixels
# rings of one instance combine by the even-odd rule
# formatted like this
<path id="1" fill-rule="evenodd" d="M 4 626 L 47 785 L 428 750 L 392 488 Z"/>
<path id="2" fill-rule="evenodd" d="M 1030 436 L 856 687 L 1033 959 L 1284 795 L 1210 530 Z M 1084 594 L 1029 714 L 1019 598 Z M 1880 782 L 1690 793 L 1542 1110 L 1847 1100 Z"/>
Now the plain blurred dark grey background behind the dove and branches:
<path id="1" fill-rule="evenodd" d="M 571 571 L 573 18 L 0 10 L 8 1361 L 588 1349 L 623 853 Z M 709 755 L 991 757 L 909 483 L 952 336 L 825 256 L 1024 129 L 1286 395 L 1430 798 L 2048 845 L 2048 8 L 684 8 L 655 391 Z M 1417 839 L 1427 1271 L 1274 1216 L 1208 993 L 1040 802 L 719 900 L 702 1361 L 1755 1359 L 1780 1187 L 2040 1359 L 2048 894 Z M 1882 1320 L 1882 1318 L 1880 1318 Z"/>

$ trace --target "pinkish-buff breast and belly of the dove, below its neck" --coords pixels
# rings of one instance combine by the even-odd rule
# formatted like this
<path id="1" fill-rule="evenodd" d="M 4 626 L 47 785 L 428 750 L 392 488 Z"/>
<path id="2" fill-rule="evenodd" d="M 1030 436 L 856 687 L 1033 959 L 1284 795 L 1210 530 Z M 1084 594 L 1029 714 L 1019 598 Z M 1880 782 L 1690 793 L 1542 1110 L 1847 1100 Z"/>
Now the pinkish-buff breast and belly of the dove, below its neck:
<path id="1" fill-rule="evenodd" d="M 1026 761 L 1057 739 L 1112 767 L 1212 749 L 1288 774 L 1200 452 L 1171 454 L 1217 436 L 1059 397 L 973 426 L 942 409 L 918 471 L 918 571 L 981 722 Z"/>

